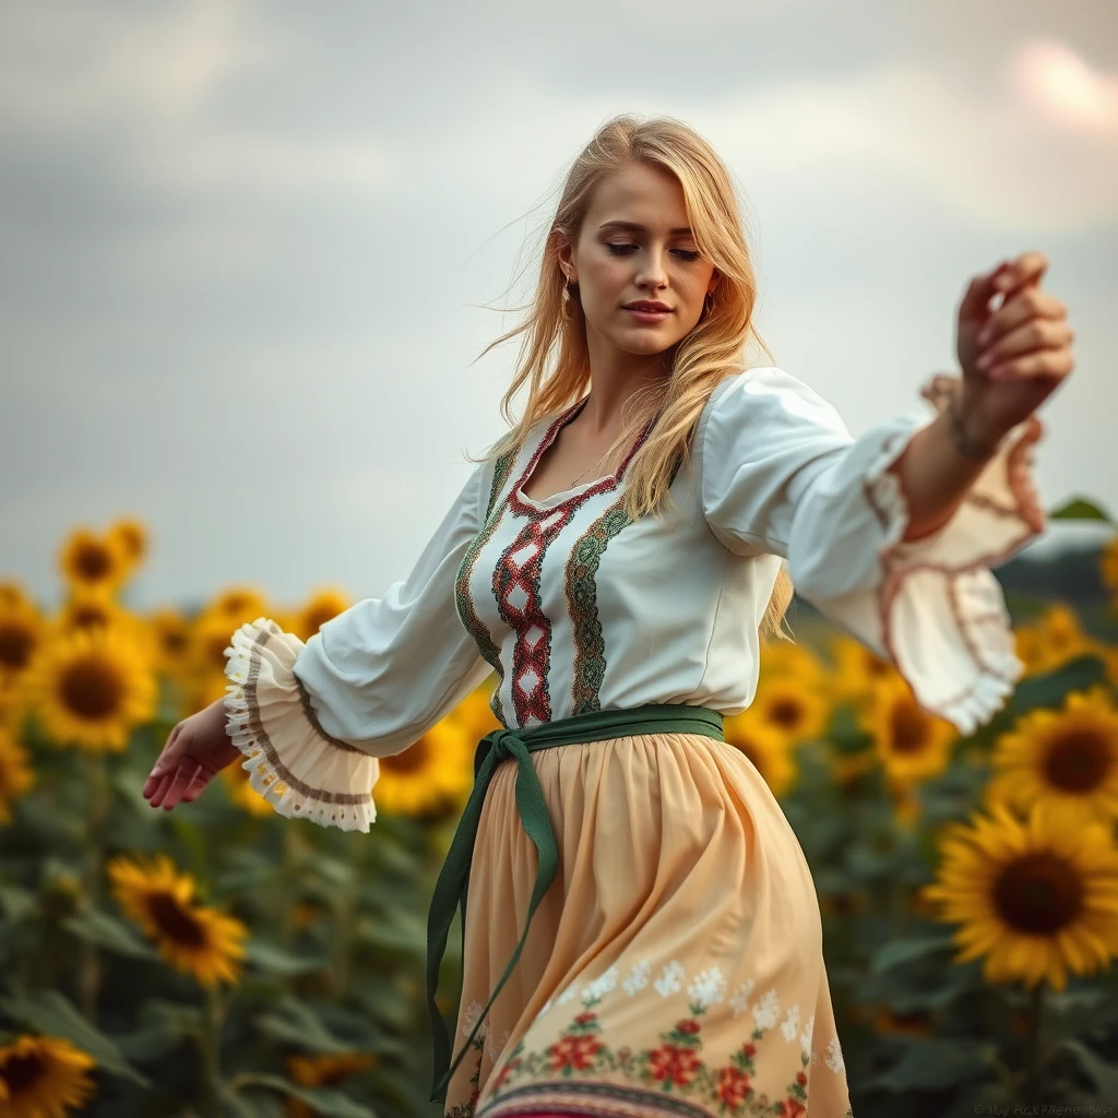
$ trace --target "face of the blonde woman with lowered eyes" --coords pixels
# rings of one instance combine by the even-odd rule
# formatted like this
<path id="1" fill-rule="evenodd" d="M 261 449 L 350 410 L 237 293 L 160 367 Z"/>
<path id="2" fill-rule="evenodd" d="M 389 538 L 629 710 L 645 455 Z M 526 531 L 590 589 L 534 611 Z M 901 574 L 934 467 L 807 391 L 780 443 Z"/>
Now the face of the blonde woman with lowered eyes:
<path id="1" fill-rule="evenodd" d="M 603 344 L 660 353 L 694 328 L 718 277 L 686 225 L 683 188 L 663 168 L 632 163 L 598 184 L 577 243 L 559 252 L 578 284 L 591 353 Z M 626 310 L 641 301 L 667 310 L 644 318 Z"/>

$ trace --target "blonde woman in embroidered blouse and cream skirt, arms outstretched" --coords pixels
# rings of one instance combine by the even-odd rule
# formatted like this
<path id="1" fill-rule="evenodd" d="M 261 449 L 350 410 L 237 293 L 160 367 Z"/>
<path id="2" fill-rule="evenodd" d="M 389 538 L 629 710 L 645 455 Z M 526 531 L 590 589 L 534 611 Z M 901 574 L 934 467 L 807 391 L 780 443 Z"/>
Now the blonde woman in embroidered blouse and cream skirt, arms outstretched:
<path id="1" fill-rule="evenodd" d="M 796 377 L 745 368 L 756 281 L 718 155 L 671 119 L 608 122 L 498 339 L 524 334 L 522 418 L 383 598 L 305 644 L 265 617 L 234 633 L 229 694 L 174 728 L 144 795 L 192 800 L 244 755 L 283 815 L 368 830 L 377 758 L 495 672 L 503 729 L 432 903 L 433 1098 L 849 1116 L 808 866 L 722 718 L 793 581 L 959 730 L 1003 705 L 1022 665 L 988 568 L 1043 529 L 1033 413 L 1073 364 L 1046 266 L 977 275 L 936 417 L 854 439 Z M 466 900 L 452 1040 L 434 987 Z"/>

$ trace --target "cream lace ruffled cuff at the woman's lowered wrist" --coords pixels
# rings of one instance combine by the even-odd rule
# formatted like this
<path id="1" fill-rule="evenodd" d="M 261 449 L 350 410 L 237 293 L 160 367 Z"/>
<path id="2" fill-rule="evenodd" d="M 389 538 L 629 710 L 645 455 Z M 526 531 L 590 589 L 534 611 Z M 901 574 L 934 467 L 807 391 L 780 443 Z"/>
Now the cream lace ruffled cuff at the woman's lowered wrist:
<path id="1" fill-rule="evenodd" d="M 225 709 L 233 743 L 253 787 L 281 814 L 342 831 L 368 831 L 377 817 L 379 761 L 319 724 L 295 675 L 303 642 L 258 617 L 233 634 Z"/>

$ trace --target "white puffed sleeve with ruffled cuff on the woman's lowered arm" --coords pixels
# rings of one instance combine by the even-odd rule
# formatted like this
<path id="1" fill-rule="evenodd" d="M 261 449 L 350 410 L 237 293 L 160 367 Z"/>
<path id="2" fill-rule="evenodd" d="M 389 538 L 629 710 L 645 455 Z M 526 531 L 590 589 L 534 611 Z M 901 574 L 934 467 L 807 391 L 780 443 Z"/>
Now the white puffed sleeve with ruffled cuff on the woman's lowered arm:
<path id="1" fill-rule="evenodd" d="M 267 617 L 233 634 L 227 731 L 281 815 L 368 831 L 377 758 L 413 745 L 489 674 L 458 619 L 455 581 L 492 473 L 492 461 L 474 470 L 382 598 L 356 603 L 305 644 Z"/>

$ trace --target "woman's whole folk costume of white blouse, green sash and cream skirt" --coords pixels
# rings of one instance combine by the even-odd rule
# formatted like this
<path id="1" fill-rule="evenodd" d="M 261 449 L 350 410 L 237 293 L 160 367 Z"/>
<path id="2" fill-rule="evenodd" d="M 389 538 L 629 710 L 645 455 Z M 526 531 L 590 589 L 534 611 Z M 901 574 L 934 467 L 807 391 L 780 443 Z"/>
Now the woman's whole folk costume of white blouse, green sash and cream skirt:
<path id="1" fill-rule="evenodd" d="M 923 395 L 942 408 L 955 383 Z M 754 699 L 785 559 L 926 709 L 964 733 L 988 721 L 1023 670 L 989 567 L 1043 530 L 1041 425 L 1007 436 L 946 525 L 904 542 L 889 466 L 926 416 L 854 439 L 787 372 L 730 376 L 676 464 L 675 510 L 633 521 L 625 471 L 652 423 L 610 476 L 523 492 L 584 405 L 479 465 L 382 598 L 305 644 L 267 618 L 241 626 L 230 736 L 276 811 L 367 831 L 377 758 L 495 673 L 503 729 L 480 743 L 432 906 L 432 1005 L 465 915 L 453 1044 L 433 1010 L 448 1116 L 849 1118 L 812 877 L 722 716 Z"/>

